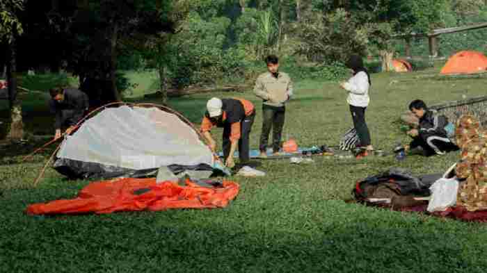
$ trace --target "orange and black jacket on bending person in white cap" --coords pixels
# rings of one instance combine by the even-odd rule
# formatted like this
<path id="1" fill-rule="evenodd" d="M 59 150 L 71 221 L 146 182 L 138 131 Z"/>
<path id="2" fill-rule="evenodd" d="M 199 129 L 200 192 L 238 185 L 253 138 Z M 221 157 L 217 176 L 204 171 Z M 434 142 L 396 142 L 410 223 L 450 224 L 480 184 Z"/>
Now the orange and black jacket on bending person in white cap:
<path id="1" fill-rule="evenodd" d="M 201 122 L 201 132 L 211 131 L 213 126 L 230 126 L 230 140 L 237 141 L 241 137 L 241 122 L 246 117 L 253 115 L 254 105 L 246 99 L 222 99 L 222 118 L 221 122 L 212 121 L 208 113 Z"/>

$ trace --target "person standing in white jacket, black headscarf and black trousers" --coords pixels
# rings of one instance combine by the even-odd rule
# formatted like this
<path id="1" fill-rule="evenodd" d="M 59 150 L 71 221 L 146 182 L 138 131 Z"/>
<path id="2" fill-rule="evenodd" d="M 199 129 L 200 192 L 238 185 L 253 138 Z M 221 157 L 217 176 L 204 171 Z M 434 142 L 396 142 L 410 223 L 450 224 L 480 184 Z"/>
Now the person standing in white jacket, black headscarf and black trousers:
<path id="1" fill-rule="evenodd" d="M 369 106 L 369 88 L 371 85 L 370 75 L 364 67 L 363 60 L 360 56 L 353 55 L 346 63 L 353 71 L 353 76 L 342 84 L 340 87 L 349 92 L 349 97 L 346 101 L 350 105 L 350 112 L 353 119 L 353 127 L 355 127 L 360 140 L 360 147 L 365 149 L 361 156 L 367 156 L 369 152 L 374 150 L 370 141 L 369 128 L 365 122 L 365 110 Z"/>

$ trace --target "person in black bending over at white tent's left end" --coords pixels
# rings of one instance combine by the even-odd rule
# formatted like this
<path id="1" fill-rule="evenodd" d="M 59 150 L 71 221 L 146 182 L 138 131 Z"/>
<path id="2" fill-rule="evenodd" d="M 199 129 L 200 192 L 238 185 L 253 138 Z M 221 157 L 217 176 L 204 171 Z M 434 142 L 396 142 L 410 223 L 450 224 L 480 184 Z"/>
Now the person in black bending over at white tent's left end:
<path id="1" fill-rule="evenodd" d="M 88 111 L 88 95 L 76 88 L 51 88 L 49 109 L 56 115 L 54 139 L 61 138 L 61 128 L 71 133 L 76 125 Z"/>

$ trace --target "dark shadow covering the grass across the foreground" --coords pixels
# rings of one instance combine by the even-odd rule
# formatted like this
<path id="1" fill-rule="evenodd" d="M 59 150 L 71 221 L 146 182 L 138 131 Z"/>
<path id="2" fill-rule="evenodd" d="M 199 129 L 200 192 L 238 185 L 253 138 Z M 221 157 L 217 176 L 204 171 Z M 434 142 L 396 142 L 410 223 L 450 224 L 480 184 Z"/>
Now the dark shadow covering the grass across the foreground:
<path id="1" fill-rule="evenodd" d="M 63 198 L 73 192 L 54 191 Z M 26 204 L 39 201 L 35 195 L 17 190 L 0 198 L 7 235 L 0 240 L 2 272 L 15 272 L 20 260 L 23 272 L 158 272 L 161 266 L 164 272 L 484 270 L 486 243 L 467 224 L 450 223 L 445 228 L 441 220 L 375 212 L 337 201 L 320 203 L 338 205 L 341 214 L 324 209 L 301 215 L 300 222 L 289 220 L 284 211 L 266 213 L 271 204 L 239 211 L 232 208 L 235 202 L 223 210 L 24 215 Z"/>

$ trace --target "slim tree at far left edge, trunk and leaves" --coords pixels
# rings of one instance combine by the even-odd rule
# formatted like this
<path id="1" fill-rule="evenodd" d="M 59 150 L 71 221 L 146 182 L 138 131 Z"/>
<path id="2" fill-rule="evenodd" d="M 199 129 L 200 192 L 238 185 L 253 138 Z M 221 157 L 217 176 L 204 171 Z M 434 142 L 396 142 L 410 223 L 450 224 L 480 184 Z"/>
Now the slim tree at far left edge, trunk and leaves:
<path id="1" fill-rule="evenodd" d="M 22 35 L 22 23 L 19 13 L 24 8 L 23 0 L 3 0 L 0 2 L 0 42 L 8 44 L 7 81 L 10 122 L 7 138 L 22 139 L 24 124 L 22 122 L 22 103 L 17 97 L 17 37 Z"/>

